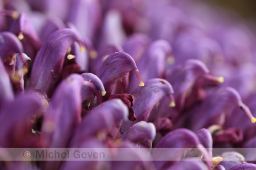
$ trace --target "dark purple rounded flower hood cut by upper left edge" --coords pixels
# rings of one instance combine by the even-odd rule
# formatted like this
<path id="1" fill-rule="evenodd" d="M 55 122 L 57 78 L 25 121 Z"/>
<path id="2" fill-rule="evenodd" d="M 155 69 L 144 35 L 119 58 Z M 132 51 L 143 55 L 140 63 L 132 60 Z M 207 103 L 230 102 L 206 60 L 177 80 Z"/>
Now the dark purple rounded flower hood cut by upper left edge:
<path id="1" fill-rule="evenodd" d="M 17 36 L 10 32 L 0 33 L 0 57 L 4 63 L 8 62 L 6 64 L 9 65 L 11 63 L 10 57 L 15 53 L 21 52 L 23 52 L 23 46 Z"/>

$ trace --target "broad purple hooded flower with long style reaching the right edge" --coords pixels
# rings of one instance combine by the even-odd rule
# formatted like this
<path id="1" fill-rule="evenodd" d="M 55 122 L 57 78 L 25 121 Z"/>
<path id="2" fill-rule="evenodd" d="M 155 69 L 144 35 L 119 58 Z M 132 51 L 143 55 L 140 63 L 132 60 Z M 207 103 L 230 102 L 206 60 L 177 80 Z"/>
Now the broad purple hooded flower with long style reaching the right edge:
<path id="1" fill-rule="evenodd" d="M 199 106 L 195 106 L 194 109 L 189 111 L 188 127 L 192 130 L 199 130 L 213 124 L 223 126 L 226 115 L 228 116 L 227 118 L 231 119 L 230 111 L 234 106 L 241 107 L 251 121 L 255 122 L 256 119 L 252 116 L 248 107 L 241 101 L 237 91 L 231 87 L 223 87 L 213 91 Z M 203 121 L 198 121 L 199 119 Z"/>

